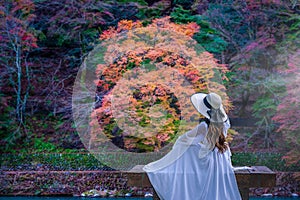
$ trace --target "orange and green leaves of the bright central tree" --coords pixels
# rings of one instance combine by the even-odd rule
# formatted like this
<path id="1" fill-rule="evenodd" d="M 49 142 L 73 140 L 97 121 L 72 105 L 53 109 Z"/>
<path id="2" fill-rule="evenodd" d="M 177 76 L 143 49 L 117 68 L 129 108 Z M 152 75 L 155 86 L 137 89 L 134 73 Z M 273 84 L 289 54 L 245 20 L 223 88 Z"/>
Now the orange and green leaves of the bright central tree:
<path id="1" fill-rule="evenodd" d="M 117 146 L 129 151 L 157 151 L 175 137 L 178 129 L 176 124 L 180 121 L 180 116 L 183 115 L 180 110 L 189 104 L 186 101 L 180 102 L 176 99 L 176 96 L 188 92 L 186 84 L 181 83 L 184 78 L 191 84 L 192 93 L 215 90 L 224 97 L 225 105 L 229 106 L 226 95 L 223 93 L 224 88 L 215 82 L 218 78 L 226 78 L 222 75 L 216 77 L 218 71 L 224 73 L 226 68 L 218 64 L 211 54 L 203 50 L 198 51 L 194 44 L 190 44 L 195 43 L 191 37 L 197 30 L 196 23 L 175 24 L 170 22 L 169 18 L 155 19 L 152 24 L 146 27 L 142 27 L 138 21 L 123 20 L 117 28 L 110 28 L 100 36 L 104 43 L 107 42 L 107 49 L 115 49 L 115 52 L 105 55 L 107 60 L 113 60 L 112 64 L 108 66 L 99 64 L 96 70 L 99 77 L 95 81 L 97 93 L 101 96 L 106 95 L 102 99 L 100 107 L 96 108 L 96 114 L 93 115 L 97 116 L 98 122 L 96 123 L 100 123 L 104 127 L 109 126 L 109 128 L 104 128 L 108 138 L 121 137 L 121 143 L 115 143 Z M 124 33 L 126 33 L 125 36 Z M 138 39 L 141 36 L 148 39 Z M 115 41 L 116 38 L 121 44 Z M 135 41 L 135 38 L 138 40 Z M 110 39 L 113 42 L 110 43 Z M 159 47 L 151 46 L 153 39 L 159 44 Z M 176 47 L 177 43 L 181 46 Z M 189 53 L 185 55 L 184 52 Z M 173 70 L 168 72 L 168 67 L 173 68 Z M 177 73 L 179 72 L 182 76 L 182 78 L 178 77 L 177 81 L 172 80 L 176 72 L 174 70 L 177 70 Z M 151 76 L 142 75 L 148 72 L 151 73 Z M 120 82 L 123 74 L 130 77 L 128 81 L 122 80 Z M 160 84 L 160 79 L 175 84 L 176 90 L 170 90 L 171 88 L 169 89 L 165 83 Z M 133 91 L 132 94 L 130 94 L 131 90 Z M 122 102 L 116 98 L 120 96 L 121 99 L 123 96 L 131 95 L 128 105 L 122 104 L 119 109 L 112 109 L 110 100 L 112 97 L 115 102 Z M 156 106 L 161 107 L 161 110 L 165 110 L 166 113 L 158 110 L 159 113 L 156 112 L 151 116 L 150 109 L 155 109 Z M 122 112 L 127 110 L 126 117 L 122 117 L 122 113 L 119 113 L 118 110 Z M 112 113 L 118 116 L 118 124 L 125 123 L 126 120 L 129 121 L 126 124 L 126 131 L 123 130 L 121 133 L 116 124 L 111 126 L 111 123 L 116 120 Z M 193 115 L 195 115 L 194 111 L 184 114 L 187 119 L 197 116 L 197 114 Z M 155 128 L 155 120 L 158 120 L 157 127 L 160 129 Z M 131 126 L 129 123 L 132 123 Z M 142 132 L 137 132 L 136 127 L 138 126 L 142 127 Z M 134 134 L 127 136 L 132 133 Z M 97 138 L 97 136 L 91 138 Z"/>

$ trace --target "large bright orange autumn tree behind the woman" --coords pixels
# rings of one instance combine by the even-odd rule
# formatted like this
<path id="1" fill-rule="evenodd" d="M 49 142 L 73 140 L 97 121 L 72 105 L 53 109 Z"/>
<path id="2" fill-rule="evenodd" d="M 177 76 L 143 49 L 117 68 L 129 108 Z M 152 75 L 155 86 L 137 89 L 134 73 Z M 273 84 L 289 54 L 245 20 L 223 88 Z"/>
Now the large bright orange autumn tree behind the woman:
<path id="1" fill-rule="evenodd" d="M 194 22 L 165 17 L 147 26 L 122 20 L 101 34 L 101 46 L 84 64 L 93 69 L 98 61 L 90 126 L 100 129 L 85 136 L 87 148 L 97 151 L 112 140 L 127 151 L 159 151 L 198 123 L 188 100 L 195 92 L 215 91 L 230 107 L 222 85 L 227 68 L 191 38 L 198 30 Z"/>

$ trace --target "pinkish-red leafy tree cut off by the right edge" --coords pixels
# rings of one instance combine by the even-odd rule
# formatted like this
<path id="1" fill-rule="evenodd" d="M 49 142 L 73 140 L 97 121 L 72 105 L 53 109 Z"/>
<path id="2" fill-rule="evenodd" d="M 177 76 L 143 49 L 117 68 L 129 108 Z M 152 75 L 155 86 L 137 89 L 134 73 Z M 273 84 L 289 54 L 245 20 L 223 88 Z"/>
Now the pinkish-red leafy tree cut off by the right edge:
<path id="1" fill-rule="evenodd" d="M 296 5 L 296 4 L 295 4 Z M 300 123 L 299 123 L 299 73 L 300 73 L 300 17 L 292 14 L 286 19 L 291 24 L 284 40 L 278 44 L 280 54 L 277 61 L 281 64 L 280 74 L 285 84 L 285 90 L 277 106 L 276 114 L 272 118 L 276 123 L 276 131 L 282 134 L 288 144 L 288 152 L 284 159 L 288 164 L 299 165 L 300 154 Z M 299 177 L 298 177 L 299 178 Z"/>

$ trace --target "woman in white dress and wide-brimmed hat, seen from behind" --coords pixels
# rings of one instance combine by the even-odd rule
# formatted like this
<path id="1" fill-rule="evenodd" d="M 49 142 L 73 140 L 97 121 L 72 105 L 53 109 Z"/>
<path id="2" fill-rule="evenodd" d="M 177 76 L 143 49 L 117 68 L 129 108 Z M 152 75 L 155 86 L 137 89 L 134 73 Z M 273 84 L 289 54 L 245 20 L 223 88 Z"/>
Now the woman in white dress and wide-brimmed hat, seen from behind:
<path id="1" fill-rule="evenodd" d="M 160 199 L 240 200 L 225 142 L 230 122 L 222 99 L 215 93 L 196 93 L 191 102 L 205 121 L 181 135 L 166 156 L 143 169 Z"/>

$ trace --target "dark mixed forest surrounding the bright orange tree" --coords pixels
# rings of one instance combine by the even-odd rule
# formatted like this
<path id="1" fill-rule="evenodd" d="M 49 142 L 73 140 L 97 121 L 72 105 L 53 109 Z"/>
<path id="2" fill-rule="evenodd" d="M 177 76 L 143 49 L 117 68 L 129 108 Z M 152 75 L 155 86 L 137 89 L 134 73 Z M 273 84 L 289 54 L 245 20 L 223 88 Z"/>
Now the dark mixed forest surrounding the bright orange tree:
<path id="1" fill-rule="evenodd" d="M 233 164 L 299 172 L 299 14 L 297 0 L 1 0 L 1 168 L 109 169 L 72 119 L 77 72 L 112 30 L 169 16 L 226 67 Z"/>

